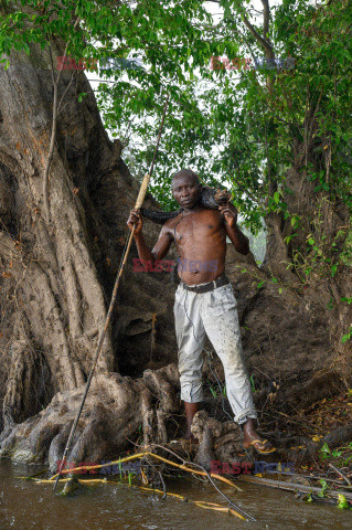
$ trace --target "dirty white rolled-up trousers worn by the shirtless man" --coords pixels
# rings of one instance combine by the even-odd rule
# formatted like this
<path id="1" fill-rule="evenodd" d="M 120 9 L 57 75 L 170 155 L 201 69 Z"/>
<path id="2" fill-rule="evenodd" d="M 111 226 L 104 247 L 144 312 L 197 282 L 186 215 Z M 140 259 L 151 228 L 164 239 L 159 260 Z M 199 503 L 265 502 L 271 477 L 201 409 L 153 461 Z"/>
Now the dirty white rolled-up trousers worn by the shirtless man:
<path id="1" fill-rule="evenodd" d="M 181 400 L 188 403 L 203 400 L 202 351 L 206 335 L 224 367 L 226 392 L 235 422 L 242 424 L 248 417 L 257 417 L 243 361 L 237 301 L 232 285 L 209 293 L 193 293 L 181 283 L 175 293 L 173 311 Z"/>

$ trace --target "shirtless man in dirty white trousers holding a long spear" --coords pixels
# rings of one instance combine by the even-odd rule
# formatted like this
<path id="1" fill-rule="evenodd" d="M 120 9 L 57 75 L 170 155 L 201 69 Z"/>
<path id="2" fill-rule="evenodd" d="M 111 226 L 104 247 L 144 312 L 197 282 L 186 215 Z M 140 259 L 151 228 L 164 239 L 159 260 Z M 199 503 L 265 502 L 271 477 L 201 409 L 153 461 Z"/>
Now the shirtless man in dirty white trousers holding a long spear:
<path id="1" fill-rule="evenodd" d="M 130 230 L 136 225 L 134 236 L 143 264 L 153 265 L 162 259 L 172 242 L 181 256 L 174 317 L 181 400 L 186 416 L 185 437 L 194 439 L 192 420 L 203 400 L 202 351 L 206 333 L 224 365 L 234 420 L 243 427 L 243 447 L 253 446 L 260 454 L 271 453 L 275 449 L 269 442 L 263 441 L 255 431 L 257 413 L 243 362 L 237 303 L 224 274 L 226 235 L 241 254 L 248 254 L 248 239 L 236 224 L 237 211 L 233 204 L 220 205 L 218 211 L 200 204 L 201 184 L 193 171 L 177 172 L 172 178 L 172 192 L 183 210 L 166 222 L 152 251 L 142 236 L 138 210 L 131 210 L 127 225 Z"/>

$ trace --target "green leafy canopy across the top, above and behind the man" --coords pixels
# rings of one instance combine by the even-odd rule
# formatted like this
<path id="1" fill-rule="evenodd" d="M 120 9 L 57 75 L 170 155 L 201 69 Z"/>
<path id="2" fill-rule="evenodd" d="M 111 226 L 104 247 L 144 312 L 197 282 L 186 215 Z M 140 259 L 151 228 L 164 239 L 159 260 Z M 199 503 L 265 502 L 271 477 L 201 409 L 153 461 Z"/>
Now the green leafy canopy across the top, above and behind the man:
<path id="1" fill-rule="evenodd" d="M 264 56 L 263 39 L 254 36 L 263 38 L 263 19 L 254 18 L 250 2 L 221 0 L 218 22 L 207 2 L 199 0 L 23 0 L 22 9 L 18 6 L 4 1 L 0 8 L 6 67 L 17 52 L 31 54 L 33 45 L 47 50 L 58 35 L 76 60 L 142 60 L 141 68 L 104 71 L 96 92 L 105 126 L 122 140 L 124 157 L 139 178 L 150 165 L 170 94 L 151 183 L 162 208 L 177 206 L 171 176 L 190 167 L 206 183 L 228 187 L 244 227 L 255 236 L 268 215 L 281 215 L 290 224 L 285 244 L 292 263 L 287 266 L 302 286 L 352 265 L 351 230 L 341 227 L 328 237 L 323 214 L 337 201 L 352 211 L 349 2 L 316 7 L 284 0 L 273 6 L 267 45 L 276 57 L 294 57 L 296 67 L 239 71 L 211 71 L 210 59 Z M 50 55 L 44 57 L 51 67 Z M 78 100 L 83 98 L 81 94 Z M 308 222 L 288 206 L 297 193 L 288 179 L 292 167 L 302 184 L 313 184 Z"/>

